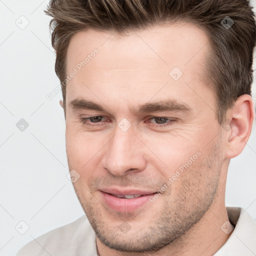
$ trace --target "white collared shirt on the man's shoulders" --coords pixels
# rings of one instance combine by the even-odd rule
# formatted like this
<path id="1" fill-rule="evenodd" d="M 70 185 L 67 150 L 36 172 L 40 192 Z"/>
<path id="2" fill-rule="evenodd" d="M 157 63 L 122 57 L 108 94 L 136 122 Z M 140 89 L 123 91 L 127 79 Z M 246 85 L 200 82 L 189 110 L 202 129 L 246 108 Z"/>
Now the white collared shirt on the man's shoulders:
<path id="1" fill-rule="evenodd" d="M 214 256 L 255 256 L 256 222 L 242 208 L 226 207 L 234 230 Z M 220 227 L 219 227 L 220 228 Z M 39 236 L 16 256 L 96 256 L 95 232 L 85 215 Z"/>

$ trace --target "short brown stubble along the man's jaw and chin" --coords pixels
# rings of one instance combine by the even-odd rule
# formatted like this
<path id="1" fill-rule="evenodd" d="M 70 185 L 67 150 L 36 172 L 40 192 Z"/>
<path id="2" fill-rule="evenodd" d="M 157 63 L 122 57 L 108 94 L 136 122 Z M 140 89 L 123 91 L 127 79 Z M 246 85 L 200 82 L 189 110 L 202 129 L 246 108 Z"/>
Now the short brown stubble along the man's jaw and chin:
<path id="1" fill-rule="evenodd" d="M 169 189 L 159 197 L 164 198 L 160 212 L 150 210 L 153 217 L 148 220 L 148 225 L 139 225 L 133 221 L 131 214 L 115 214 L 111 216 L 114 222 L 109 222 L 106 215 L 111 214 L 110 210 L 103 207 L 99 199 L 93 195 L 84 198 L 83 190 L 80 187 L 74 189 L 80 204 L 95 231 L 98 239 L 109 248 L 124 252 L 156 252 L 169 245 L 182 236 L 195 223 L 197 223 L 206 211 L 209 210 L 218 188 L 219 175 L 221 170 L 219 141 L 211 148 L 207 157 L 200 163 L 193 163 L 184 173 L 180 175 L 180 187 Z M 82 188 L 82 187 L 81 187 Z M 173 191 L 172 191 L 173 190 Z M 170 194 L 170 196 L 166 196 Z M 151 207 L 153 207 L 154 202 Z M 100 206 L 98 206 L 100 205 Z M 99 208 L 100 207 L 100 208 Z M 118 225 L 123 219 L 130 224 L 131 229 L 123 234 Z M 135 218 L 134 218 L 135 220 Z M 134 225 L 134 226 L 132 226 Z M 182 242 L 182 239 L 180 239 Z"/>

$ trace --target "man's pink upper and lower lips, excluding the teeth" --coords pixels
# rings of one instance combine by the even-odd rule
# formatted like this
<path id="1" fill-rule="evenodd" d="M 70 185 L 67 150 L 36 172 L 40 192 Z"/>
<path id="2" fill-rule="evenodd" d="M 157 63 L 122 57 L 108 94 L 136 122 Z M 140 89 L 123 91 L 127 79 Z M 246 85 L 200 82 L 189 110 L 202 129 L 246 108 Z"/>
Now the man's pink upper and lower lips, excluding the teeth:
<path id="1" fill-rule="evenodd" d="M 152 196 L 155 192 L 144 191 L 144 190 L 136 190 L 136 189 L 127 189 L 127 190 L 119 190 L 119 189 L 103 189 L 99 190 L 103 201 L 106 203 L 108 207 L 115 211 L 119 212 L 132 212 L 136 209 L 141 208 L 147 202 L 149 202 L 149 197 Z M 143 194 L 142 196 L 135 198 L 118 198 L 111 194 L 117 195 L 127 195 L 127 194 Z"/>

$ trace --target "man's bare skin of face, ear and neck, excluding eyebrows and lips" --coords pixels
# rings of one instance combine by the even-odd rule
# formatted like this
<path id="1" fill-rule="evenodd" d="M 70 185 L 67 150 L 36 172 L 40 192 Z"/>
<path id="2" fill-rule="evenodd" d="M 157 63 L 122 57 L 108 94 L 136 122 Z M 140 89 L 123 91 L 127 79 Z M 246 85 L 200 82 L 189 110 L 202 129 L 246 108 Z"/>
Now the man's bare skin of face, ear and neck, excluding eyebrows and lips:
<path id="1" fill-rule="evenodd" d="M 80 175 L 73 185 L 100 256 L 212 255 L 230 236 L 220 229 L 228 220 L 227 168 L 248 140 L 254 113 L 251 97 L 242 95 L 226 113 L 230 129 L 219 125 L 214 93 L 202 79 L 207 42 L 206 34 L 188 23 L 124 36 L 79 31 L 71 38 L 67 73 L 99 50 L 67 84 L 65 119 L 69 170 Z M 183 73 L 177 81 L 169 75 L 175 66 Z M 74 99 L 105 110 L 72 107 Z M 140 104 L 164 99 L 190 111 L 137 112 Z M 99 117 L 87 119 L 91 125 L 80 121 L 92 116 Z M 126 131 L 118 126 L 123 118 L 131 124 Z M 142 209 L 118 212 L 102 200 L 99 189 L 113 185 L 159 190 L 198 151 L 200 156 Z M 118 228 L 123 221 L 130 227 L 126 233 Z"/>

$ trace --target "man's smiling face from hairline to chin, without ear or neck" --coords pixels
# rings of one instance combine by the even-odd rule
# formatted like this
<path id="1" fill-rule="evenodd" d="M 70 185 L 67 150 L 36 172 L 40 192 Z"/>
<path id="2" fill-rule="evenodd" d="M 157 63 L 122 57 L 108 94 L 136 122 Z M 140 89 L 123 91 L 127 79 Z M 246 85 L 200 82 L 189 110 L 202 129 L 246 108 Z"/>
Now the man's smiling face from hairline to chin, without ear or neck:
<path id="1" fill-rule="evenodd" d="M 216 100 L 202 79 L 208 38 L 190 24 L 110 35 L 81 31 L 68 47 L 67 74 L 77 70 L 66 87 L 68 165 L 100 241 L 152 251 L 184 234 L 218 194 Z"/>

